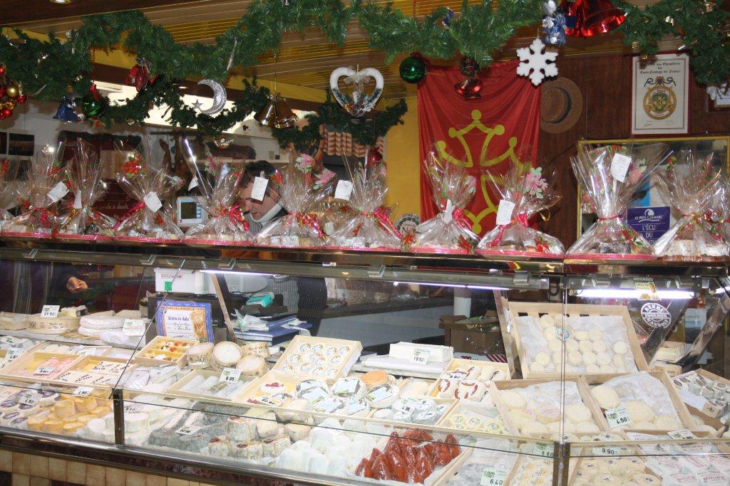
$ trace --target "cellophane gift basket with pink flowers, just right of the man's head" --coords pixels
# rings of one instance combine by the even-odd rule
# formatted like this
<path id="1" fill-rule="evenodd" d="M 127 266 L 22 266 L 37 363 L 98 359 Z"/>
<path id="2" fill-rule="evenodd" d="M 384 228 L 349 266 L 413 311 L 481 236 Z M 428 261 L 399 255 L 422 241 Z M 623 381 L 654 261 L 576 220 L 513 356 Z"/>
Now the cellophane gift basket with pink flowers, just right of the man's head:
<path id="1" fill-rule="evenodd" d="M 262 228 L 256 235 L 256 244 L 288 248 L 322 246 L 325 237 L 315 211 L 334 183 L 334 172 L 307 154 L 274 173 L 269 178 L 268 184 L 272 185 L 269 190 L 279 196 L 288 214 Z"/>

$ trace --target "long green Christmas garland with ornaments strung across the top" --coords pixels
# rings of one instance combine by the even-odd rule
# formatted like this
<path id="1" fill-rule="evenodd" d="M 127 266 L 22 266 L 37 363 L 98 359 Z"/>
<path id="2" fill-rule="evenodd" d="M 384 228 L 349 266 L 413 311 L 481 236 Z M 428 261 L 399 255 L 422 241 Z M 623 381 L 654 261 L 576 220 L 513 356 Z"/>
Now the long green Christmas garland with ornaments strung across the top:
<path id="1" fill-rule="evenodd" d="M 628 12 L 619 30 L 626 45 L 648 54 L 656 52 L 664 36 L 677 36 L 691 54 L 696 79 L 721 83 L 730 77 L 730 12 L 721 9 L 721 4 L 722 0 L 661 0 L 639 9 L 619 0 L 618 6 Z M 28 95 L 58 101 L 68 86 L 77 93 L 88 92 L 94 49 L 120 46 L 145 58 L 150 74 L 161 75 L 160 84 L 147 87 L 146 93 L 126 106 L 110 107 L 110 113 L 101 115 L 99 122 L 138 123 L 152 106 L 166 104 L 174 125 L 199 125 L 206 133 L 215 133 L 230 128 L 260 106 L 264 90 L 247 85 L 244 98 L 233 110 L 206 118 L 180 101 L 174 80 L 223 82 L 230 66 L 254 66 L 258 56 L 276 52 L 286 32 L 315 27 L 329 42 L 341 45 L 347 26 L 357 21 L 367 33 L 369 47 L 384 51 L 388 61 L 413 51 L 439 59 L 461 52 L 485 68 L 518 28 L 539 23 L 540 6 L 540 0 L 499 0 L 496 6 L 491 1 L 475 5 L 464 1 L 461 13 L 445 23 L 445 8 L 416 18 L 391 4 L 363 0 L 352 0 L 349 5 L 343 0 L 254 0 L 236 25 L 217 36 L 213 44 L 177 44 L 162 26 L 133 10 L 83 17 L 82 25 L 66 40 L 51 35 L 40 41 L 21 31 L 16 31 L 19 40 L 0 36 L 0 62 Z M 369 135 L 360 139 L 366 138 Z"/>

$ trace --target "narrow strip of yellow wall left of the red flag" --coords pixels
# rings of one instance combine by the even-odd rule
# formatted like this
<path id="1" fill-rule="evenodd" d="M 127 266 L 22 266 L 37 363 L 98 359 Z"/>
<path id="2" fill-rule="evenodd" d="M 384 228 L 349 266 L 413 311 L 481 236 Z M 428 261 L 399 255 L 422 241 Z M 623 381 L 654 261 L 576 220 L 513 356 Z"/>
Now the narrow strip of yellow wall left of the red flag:
<path id="1" fill-rule="evenodd" d="M 388 196 L 385 203 L 396 207 L 395 218 L 403 213 L 420 214 L 420 156 L 418 154 L 418 101 L 406 98 L 404 124 L 388 132 Z"/>

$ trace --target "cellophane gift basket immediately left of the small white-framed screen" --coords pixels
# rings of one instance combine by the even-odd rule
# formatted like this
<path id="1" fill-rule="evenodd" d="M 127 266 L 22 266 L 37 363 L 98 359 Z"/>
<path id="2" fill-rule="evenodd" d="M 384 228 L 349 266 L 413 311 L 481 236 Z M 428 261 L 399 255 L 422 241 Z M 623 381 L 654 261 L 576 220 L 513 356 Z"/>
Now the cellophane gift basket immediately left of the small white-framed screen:
<path id="1" fill-rule="evenodd" d="M 123 149 L 123 171 L 117 182 L 137 203 L 115 226 L 115 240 L 131 243 L 180 243 L 183 231 L 174 224 L 164 208 L 183 180 L 167 169 L 150 167 L 145 157 L 134 149 Z"/>

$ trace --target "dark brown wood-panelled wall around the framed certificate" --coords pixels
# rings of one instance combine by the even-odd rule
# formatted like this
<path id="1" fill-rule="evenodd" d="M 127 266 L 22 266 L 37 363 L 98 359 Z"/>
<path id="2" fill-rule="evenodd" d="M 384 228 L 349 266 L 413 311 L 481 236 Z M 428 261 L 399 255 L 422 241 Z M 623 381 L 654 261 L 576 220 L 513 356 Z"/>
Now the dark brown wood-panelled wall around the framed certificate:
<path id="1" fill-rule="evenodd" d="M 542 132 L 540 159 L 553 161 L 558 191 L 563 196 L 543 230 L 560 238 L 566 248 L 577 234 L 577 183 L 570 168 L 575 144 L 583 138 L 631 137 L 631 55 L 593 58 L 558 57 L 561 77 L 572 79 L 583 93 L 583 116 L 564 133 Z M 691 78 L 687 136 L 730 135 L 730 110 L 711 111 L 705 87 Z"/>

